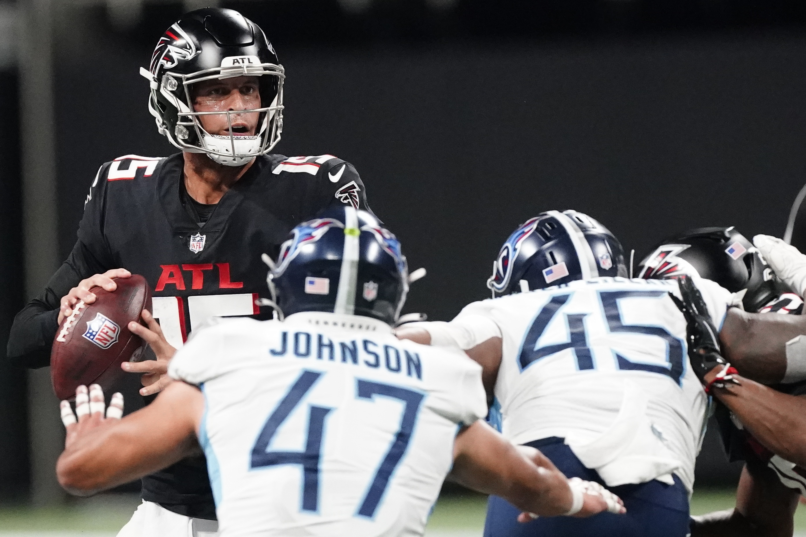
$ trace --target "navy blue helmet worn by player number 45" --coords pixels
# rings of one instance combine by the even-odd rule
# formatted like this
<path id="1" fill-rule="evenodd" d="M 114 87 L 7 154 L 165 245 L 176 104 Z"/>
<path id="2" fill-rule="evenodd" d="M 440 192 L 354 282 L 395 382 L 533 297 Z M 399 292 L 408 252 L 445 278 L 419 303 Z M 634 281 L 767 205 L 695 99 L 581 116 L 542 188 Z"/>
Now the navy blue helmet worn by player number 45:
<path id="1" fill-rule="evenodd" d="M 618 239 L 586 214 L 547 211 L 509 235 L 487 287 L 495 298 L 599 276 L 627 276 Z"/>

